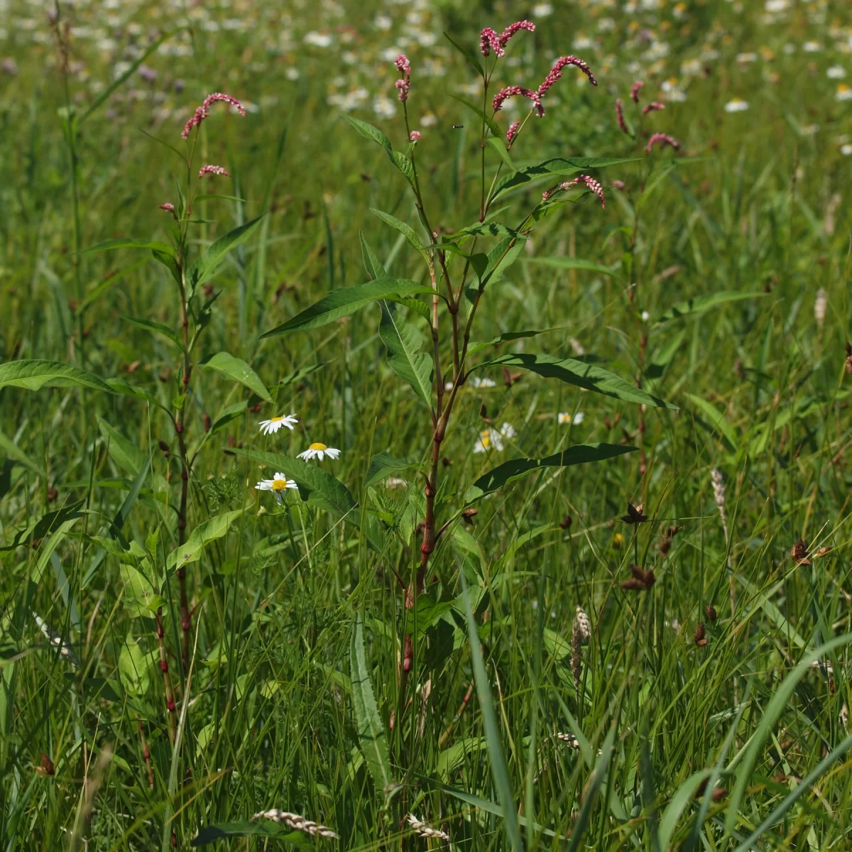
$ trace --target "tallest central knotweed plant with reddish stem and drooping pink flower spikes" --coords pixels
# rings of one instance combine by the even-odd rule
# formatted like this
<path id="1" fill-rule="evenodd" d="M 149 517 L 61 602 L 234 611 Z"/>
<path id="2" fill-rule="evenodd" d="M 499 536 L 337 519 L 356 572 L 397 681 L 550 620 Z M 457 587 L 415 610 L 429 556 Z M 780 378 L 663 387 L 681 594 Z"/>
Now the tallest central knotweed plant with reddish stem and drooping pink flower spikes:
<path id="1" fill-rule="evenodd" d="M 365 283 L 332 291 L 320 302 L 303 310 L 282 325 L 268 331 L 265 337 L 277 337 L 294 331 L 307 331 L 340 320 L 368 304 L 378 302 L 381 310 L 380 337 L 387 350 L 391 370 L 412 389 L 423 424 L 423 451 L 427 459 L 420 469 L 423 500 L 413 501 L 422 515 L 412 529 L 420 535 L 417 556 L 412 559 L 409 576 L 396 574 L 404 606 L 417 606 L 418 596 L 429 588 L 432 579 L 441 573 L 442 563 L 435 561 L 435 551 L 459 520 L 472 516 L 471 509 L 489 494 L 510 481 L 546 467 L 603 461 L 630 452 L 633 447 L 610 444 L 571 446 L 545 458 L 515 458 L 486 470 L 469 487 L 450 493 L 441 478 L 441 458 L 445 442 L 452 433 L 454 418 L 466 386 L 484 386 L 490 377 L 481 380 L 481 371 L 530 371 L 541 377 L 556 379 L 619 400 L 645 406 L 665 406 L 661 400 L 637 389 L 634 385 L 595 364 L 542 353 L 496 354 L 502 343 L 520 338 L 536 337 L 538 330 L 512 330 L 485 343 L 474 343 L 476 320 L 488 308 L 499 292 L 504 274 L 521 255 L 527 239 L 545 217 L 561 213 L 591 196 L 604 207 L 606 203 L 602 182 L 593 172 L 607 165 L 624 162 L 622 159 L 585 158 L 566 152 L 564 156 L 544 159 L 534 165 L 518 165 L 512 153 L 524 139 L 530 122 L 546 121 L 546 95 L 562 75 L 575 70 L 588 79 L 592 87 L 597 80 L 590 66 L 573 55 L 561 56 L 550 68 L 544 80 L 515 82 L 507 79 L 511 70 L 502 61 L 511 48 L 511 40 L 535 30 L 527 20 L 517 21 L 502 32 L 486 27 L 481 32 L 479 55 L 474 50 L 453 42 L 479 76 L 481 107 L 466 105 L 475 115 L 480 131 L 480 175 L 476 187 L 477 214 L 464 227 L 446 231 L 438 227 L 438 214 L 425 192 L 422 181 L 421 152 L 436 144 L 428 132 L 412 130 L 417 109 L 417 68 L 406 55 L 394 60 L 398 79 L 395 83 L 402 107 L 401 127 L 397 136 L 400 147 L 394 147 L 383 130 L 345 116 L 355 130 L 387 153 L 390 163 L 406 181 L 412 202 L 413 221 L 406 222 L 383 210 L 372 212 L 385 226 L 401 234 L 417 257 L 419 274 L 412 279 L 392 277 L 385 269 L 371 241 L 361 234 L 361 248 L 366 274 Z M 452 39 L 451 39 L 452 41 Z M 511 98 L 529 101 L 526 116 L 513 121 L 509 128 L 501 127 L 504 106 Z M 566 107 L 569 108 L 569 107 Z M 533 152 L 527 152 L 531 156 Z M 519 193 L 517 190 L 529 190 Z M 514 191 L 514 192 L 513 192 Z M 516 201 L 515 199 L 521 199 Z M 473 199 L 471 199 L 473 201 Z M 579 216 L 593 216 L 594 208 L 586 206 Z M 422 296 L 427 299 L 424 302 Z M 428 345 L 424 348 L 423 331 Z M 589 359 L 590 361 L 592 359 Z M 519 374 L 520 375 L 520 374 Z M 480 435 L 474 452 L 491 458 L 494 451 L 504 448 L 504 438 L 515 435 L 509 423 L 501 428 L 487 429 Z M 426 442 L 429 442 L 428 449 Z M 312 450 L 331 454 L 323 445 Z M 311 450 L 308 450 L 310 453 Z M 308 454 L 305 458 L 308 458 Z M 280 458 L 280 457 L 276 457 Z M 321 455 L 320 455 L 321 458 Z M 333 458 L 333 457 L 332 457 Z M 256 457 L 257 461 L 264 461 Z M 273 459 L 267 459 L 273 463 Z M 371 470 L 381 474 L 399 470 L 409 462 L 390 459 L 387 453 L 377 454 Z M 299 470 L 289 463 L 285 470 L 299 482 Z M 375 476 L 372 477 L 376 479 Z M 300 483 L 301 485 L 301 483 Z M 411 497 L 411 489 L 409 492 Z M 368 511 L 362 527 L 366 540 L 380 552 L 399 528 L 389 527 L 381 513 Z M 408 540 L 406 547 L 414 542 Z M 452 573 L 452 572 L 451 572 Z M 445 579 L 452 584 L 452 577 Z M 461 578 L 463 582 L 463 578 Z M 400 708 L 406 707 L 406 681 L 417 667 L 416 642 L 409 628 L 400 636 Z M 391 719 L 394 725 L 394 717 Z M 385 786 L 387 779 L 383 781 Z"/>

